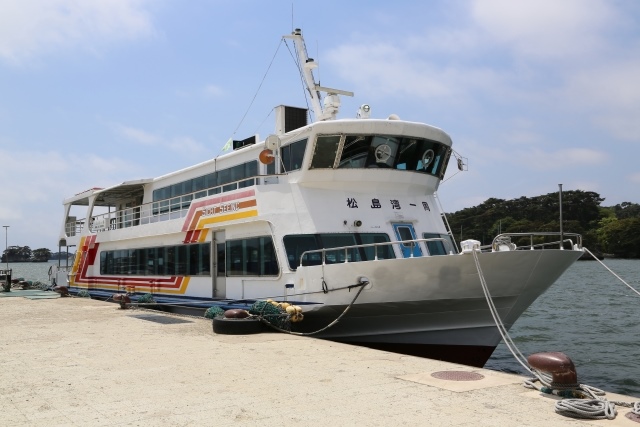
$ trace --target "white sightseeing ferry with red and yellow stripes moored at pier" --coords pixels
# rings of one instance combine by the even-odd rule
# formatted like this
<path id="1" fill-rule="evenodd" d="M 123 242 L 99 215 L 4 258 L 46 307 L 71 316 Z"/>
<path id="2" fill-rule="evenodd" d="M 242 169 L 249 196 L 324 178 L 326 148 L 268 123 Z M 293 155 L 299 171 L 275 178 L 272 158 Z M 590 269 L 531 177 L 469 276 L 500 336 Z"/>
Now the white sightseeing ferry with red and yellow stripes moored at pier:
<path id="1" fill-rule="evenodd" d="M 582 255 L 580 236 L 534 245 L 541 233 L 528 233 L 521 248 L 501 235 L 460 251 L 436 197 L 450 137 L 395 115 L 370 118 L 366 105 L 336 120 L 339 96 L 353 94 L 316 84 L 300 30 L 285 38 L 314 120 L 280 106 L 263 141 L 66 199 L 59 245 L 76 257 L 57 283 L 202 307 L 287 300 L 303 308 L 299 331 L 350 307 L 318 336 L 484 365 L 501 337 L 482 282 L 508 328 Z"/>

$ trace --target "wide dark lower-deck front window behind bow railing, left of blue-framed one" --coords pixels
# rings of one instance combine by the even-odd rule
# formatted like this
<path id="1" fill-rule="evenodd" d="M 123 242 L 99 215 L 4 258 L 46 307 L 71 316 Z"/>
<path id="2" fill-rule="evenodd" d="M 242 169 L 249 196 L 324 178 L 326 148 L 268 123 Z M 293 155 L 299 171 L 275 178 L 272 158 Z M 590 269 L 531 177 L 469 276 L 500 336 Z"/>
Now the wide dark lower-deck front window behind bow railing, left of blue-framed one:
<path id="1" fill-rule="evenodd" d="M 321 234 L 291 234 L 284 236 L 284 247 L 287 260 L 292 270 L 300 265 L 302 254 L 317 249 L 331 249 L 344 246 L 359 246 L 349 249 L 327 250 L 325 263 L 335 264 L 358 261 L 373 261 L 376 259 L 395 258 L 391 245 L 362 246 L 374 243 L 389 242 L 389 236 L 384 233 L 321 233 Z M 321 265 L 322 253 L 313 252 L 302 258 L 302 265 Z"/>

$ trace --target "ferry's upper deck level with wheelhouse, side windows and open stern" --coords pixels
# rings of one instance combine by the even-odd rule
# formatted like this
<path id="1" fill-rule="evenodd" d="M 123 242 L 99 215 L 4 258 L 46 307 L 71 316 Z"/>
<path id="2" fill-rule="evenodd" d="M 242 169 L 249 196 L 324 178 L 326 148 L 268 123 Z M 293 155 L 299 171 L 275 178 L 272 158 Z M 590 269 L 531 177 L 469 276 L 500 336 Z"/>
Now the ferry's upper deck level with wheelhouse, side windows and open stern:
<path id="1" fill-rule="evenodd" d="M 287 184 L 340 191 L 375 186 L 432 194 L 451 153 L 451 139 L 442 130 L 401 120 L 317 122 L 276 137 L 275 147 L 270 138 L 268 144 L 248 145 L 156 179 L 73 196 L 65 200 L 61 238 L 183 218 L 194 200 L 253 186 Z M 259 158 L 266 145 L 273 148 L 273 161 L 262 163 Z M 86 206 L 85 218 L 71 216 L 71 206 Z"/>

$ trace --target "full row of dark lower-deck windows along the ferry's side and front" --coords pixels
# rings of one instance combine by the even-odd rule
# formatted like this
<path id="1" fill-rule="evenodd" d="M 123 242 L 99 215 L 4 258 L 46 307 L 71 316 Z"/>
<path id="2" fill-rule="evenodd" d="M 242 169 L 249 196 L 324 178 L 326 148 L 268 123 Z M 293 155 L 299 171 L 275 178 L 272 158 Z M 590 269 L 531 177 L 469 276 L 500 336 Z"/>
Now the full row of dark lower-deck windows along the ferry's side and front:
<path id="1" fill-rule="evenodd" d="M 423 237 L 445 239 L 444 242 L 427 242 L 430 255 L 446 255 L 453 251 L 447 235 L 424 233 Z M 300 263 L 321 265 L 322 252 L 302 255 L 322 248 L 328 248 L 324 251 L 325 264 L 395 258 L 391 245 L 384 244 L 390 242 L 384 233 L 295 234 L 284 236 L 283 241 L 292 270 Z M 356 245 L 368 246 L 331 249 Z M 219 276 L 277 276 L 280 271 L 271 236 L 227 240 L 217 245 L 216 252 Z M 209 276 L 210 265 L 209 243 L 100 252 L 100 274 L 103 275 Z"/>

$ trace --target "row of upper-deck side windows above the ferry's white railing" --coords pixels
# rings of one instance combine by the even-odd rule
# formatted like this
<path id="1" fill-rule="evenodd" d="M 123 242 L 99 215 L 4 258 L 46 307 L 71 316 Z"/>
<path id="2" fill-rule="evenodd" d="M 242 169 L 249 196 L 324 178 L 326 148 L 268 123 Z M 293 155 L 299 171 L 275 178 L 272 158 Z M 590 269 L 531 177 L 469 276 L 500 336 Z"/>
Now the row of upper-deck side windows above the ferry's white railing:
<path id="1" fill-rule="evenodd" d="M 307 140 L 303 139 L 280 148 L 280 161 L 282 162 L 284 172 L 291 172 L 302 167 L 302 159 L 304 158 L 306 147 Z M 267 166 L 267 175 L 273 174 L 275 174 L 275 162 Z M 258 162 L 257 160 L 252 160 L 197 178 L 158 188 L 153 191 L 153 201 L 164 201 L 159 204 L 158 207 L 160 208 L 160 213 L 165 213 L 170 210 L 173 211 L 175 210 L 174 208 L 185 204 L 188 206 L 193 198 L 198 199 L 200 197 L 255 185 L 255 181 L 249 178 L 256 176 L 258 176 Z M 238 184 L 225 185 L 231 182 L 238 182 Z M 181 199 L 176 199 L 180 196 L 182 196 Z M 171 198 L 174 198 L 176 202 L 172 202 L 170 206 L 167 199 Z M 173 206 L 174 204 L 176 206 Z"/>

